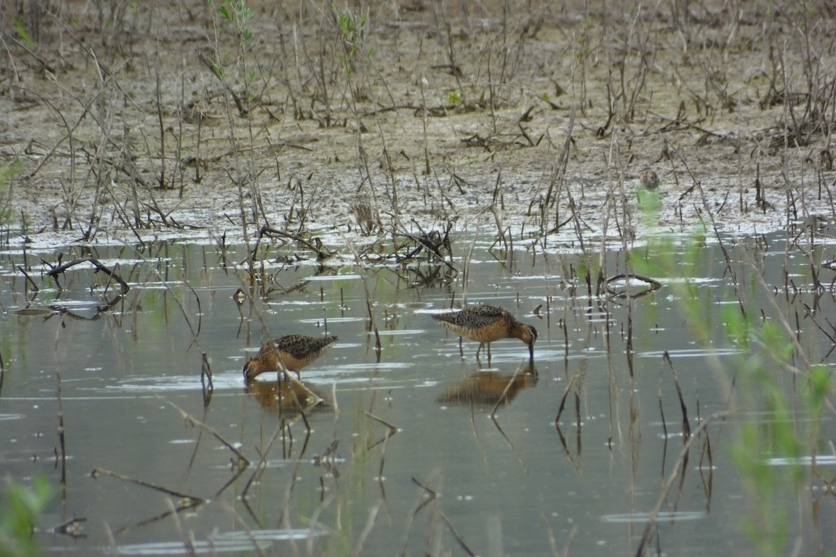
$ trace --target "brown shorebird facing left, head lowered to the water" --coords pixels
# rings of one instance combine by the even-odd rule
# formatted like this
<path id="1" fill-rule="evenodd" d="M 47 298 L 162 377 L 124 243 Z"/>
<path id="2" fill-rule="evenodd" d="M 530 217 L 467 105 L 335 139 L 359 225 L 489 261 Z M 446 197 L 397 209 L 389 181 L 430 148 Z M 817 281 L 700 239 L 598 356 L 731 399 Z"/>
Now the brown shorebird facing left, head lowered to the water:
<path id="1" fill-rule="evenodd" d="M 244 364 L 244 379 L 250 381 L 259 373 L 281 370 L 296 372 L 322 356 L 339 337 L 303 337 L 287 335 L 265 342 L 256 357 Z"/>

